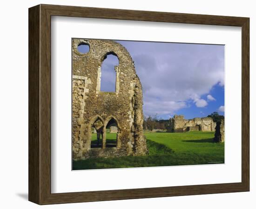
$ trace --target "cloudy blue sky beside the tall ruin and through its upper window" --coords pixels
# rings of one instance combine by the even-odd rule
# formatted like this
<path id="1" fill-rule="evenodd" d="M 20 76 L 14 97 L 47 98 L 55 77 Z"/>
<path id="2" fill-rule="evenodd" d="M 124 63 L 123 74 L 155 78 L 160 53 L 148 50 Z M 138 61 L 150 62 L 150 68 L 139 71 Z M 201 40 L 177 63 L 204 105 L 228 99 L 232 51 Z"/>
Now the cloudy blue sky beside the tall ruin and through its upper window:
<path id="1" fill-rule="evenodd" d="M 117 41 L 130 53 L 141 80 L 143 113 L 169 119 L 224 115 L 224 46 Z M 118 59 L 101 65 L 101 91 L 115 91 Z"/>

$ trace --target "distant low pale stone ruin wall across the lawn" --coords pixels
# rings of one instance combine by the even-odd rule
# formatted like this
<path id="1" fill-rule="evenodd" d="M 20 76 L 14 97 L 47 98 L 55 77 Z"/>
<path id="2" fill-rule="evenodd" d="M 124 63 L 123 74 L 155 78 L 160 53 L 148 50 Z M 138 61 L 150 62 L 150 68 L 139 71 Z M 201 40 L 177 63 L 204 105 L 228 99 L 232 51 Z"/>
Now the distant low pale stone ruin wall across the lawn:
<path id="1" fill-rule="evenodd" d="M 216 123 L 212 118 L 184 119 L 183 115 L 175 115 L 170 119 L 170 129 L 168 132 L 185 131 L 215 131 Z"/>

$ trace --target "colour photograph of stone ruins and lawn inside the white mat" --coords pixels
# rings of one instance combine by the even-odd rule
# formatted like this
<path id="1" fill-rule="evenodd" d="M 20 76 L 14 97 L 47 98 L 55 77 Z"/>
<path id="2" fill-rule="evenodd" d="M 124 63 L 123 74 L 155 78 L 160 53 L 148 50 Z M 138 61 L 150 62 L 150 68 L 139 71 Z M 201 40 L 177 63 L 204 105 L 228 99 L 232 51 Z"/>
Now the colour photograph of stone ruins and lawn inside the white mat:
<path id="1" fill-rule="evenodd" d="M 72 170 L 225 163 L 224 45 L 72 38 L 71 48 Z"/>

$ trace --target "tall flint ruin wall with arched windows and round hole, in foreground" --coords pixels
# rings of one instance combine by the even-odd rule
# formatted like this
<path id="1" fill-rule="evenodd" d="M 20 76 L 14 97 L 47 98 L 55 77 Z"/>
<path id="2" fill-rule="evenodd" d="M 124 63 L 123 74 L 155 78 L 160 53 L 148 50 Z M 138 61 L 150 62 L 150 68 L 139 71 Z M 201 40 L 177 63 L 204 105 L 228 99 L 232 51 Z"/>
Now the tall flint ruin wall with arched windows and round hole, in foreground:
<path id="1" fill-rule="evenodd" d="M 88 53 L 80 53 L 77 46 L 86 44 Z M 116 91 L 102 92 L 101 64 L 108 54 L 119 59 L 115 66 Z M 128 51 L 110 40 L 72 39 L 73 103 L 72 150 L 73 159 L 145 155 L 148 153 L 143 135 L 142 89 L 135 66 Z M 106 147 L 106 126 L 114 119 L 117 124 L 117 145 Z M 92 125 L 103 124 L 101 148 L 91 148 Z"/>

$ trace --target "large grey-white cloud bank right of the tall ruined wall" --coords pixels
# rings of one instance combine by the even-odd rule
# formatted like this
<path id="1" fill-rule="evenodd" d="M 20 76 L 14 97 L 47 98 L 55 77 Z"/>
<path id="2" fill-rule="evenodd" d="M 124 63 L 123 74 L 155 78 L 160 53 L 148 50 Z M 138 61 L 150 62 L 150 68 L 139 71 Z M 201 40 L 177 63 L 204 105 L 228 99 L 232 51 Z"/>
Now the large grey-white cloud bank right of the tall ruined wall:
<path id="1" fill-rule="evenodd" d="M 214 85 L 224 86 L 224 47 L 119 41 L 135 62 L 145 115 L 172 114 L 195 104 L 205 107 Z M 112 77 L 113 79 L 113 77 Z"/>

